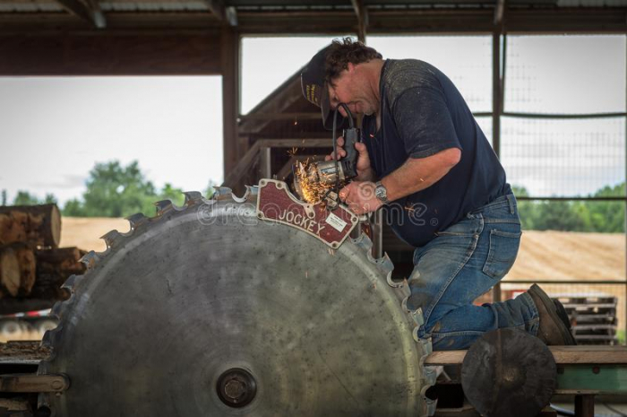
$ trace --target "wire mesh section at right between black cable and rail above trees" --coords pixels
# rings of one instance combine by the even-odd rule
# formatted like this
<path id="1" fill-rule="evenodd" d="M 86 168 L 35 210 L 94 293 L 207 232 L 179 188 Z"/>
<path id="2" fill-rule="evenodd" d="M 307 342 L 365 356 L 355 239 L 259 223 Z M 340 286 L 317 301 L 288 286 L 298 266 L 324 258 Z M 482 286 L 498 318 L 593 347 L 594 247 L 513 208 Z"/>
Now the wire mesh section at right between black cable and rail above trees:
<path id="1" fill-rule="evenodd" d="M 502 117 L 501 161 L 530 196 L 597 195 L 625 180 L 625 118 Z"/>

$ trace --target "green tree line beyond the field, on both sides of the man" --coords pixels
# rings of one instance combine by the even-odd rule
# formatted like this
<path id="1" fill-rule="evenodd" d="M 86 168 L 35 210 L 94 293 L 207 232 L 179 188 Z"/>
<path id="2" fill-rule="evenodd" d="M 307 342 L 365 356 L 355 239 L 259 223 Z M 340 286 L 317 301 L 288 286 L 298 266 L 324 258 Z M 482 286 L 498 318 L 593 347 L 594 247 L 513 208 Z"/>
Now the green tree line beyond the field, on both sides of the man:
<path id="1" fill-rule="evenodd" d="M 204 190 L 205 197 L 213 194 L 213 184 Z M 512 187 L 519 197 L 529 196 L 525 187 Z M 625 183 L 606 186 L 588 196 L 624 196 Z M 154 213 L 154 202 L 172 200 L 183 204 L 183 190 L 166 184 L 158 189 L 146 178 L 139 163 L 126 166 L 119 161 L 97 163 L 90 170 L 86 190 L 81 198 L 69 200 L 62 208 L 64 216 L 126 217 L 133 213 Z M 7 205 L 6 191 L 2 205 Z M 19 191 L 13 205 L 56 203 L 56 197 L 47 194 L 43 199 L 27 191 Z M 625 231 L 625 204 L 621 201 L 521 201 L 518 202 L 520 220 L 525 230 L 568 230 L 617 233 Z"/>

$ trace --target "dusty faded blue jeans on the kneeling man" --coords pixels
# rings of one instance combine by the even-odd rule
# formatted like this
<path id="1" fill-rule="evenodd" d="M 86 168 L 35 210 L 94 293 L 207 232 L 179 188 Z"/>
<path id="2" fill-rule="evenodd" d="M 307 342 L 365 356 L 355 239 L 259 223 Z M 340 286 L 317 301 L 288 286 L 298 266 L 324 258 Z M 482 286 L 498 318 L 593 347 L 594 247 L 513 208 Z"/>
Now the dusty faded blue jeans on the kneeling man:
<path id="1" fill-rule="evenodd" d="M 527 292 L 514 300 L 473 305 L 510 271 L 520 246 L 520 219 L 514 195 L 503 195 L 437 233 L 414 252 L 408 308 L 420 308 L 420 338 L 434 351 L 467 349 L 497 328 L 536 335 L 537 308 Z"/>

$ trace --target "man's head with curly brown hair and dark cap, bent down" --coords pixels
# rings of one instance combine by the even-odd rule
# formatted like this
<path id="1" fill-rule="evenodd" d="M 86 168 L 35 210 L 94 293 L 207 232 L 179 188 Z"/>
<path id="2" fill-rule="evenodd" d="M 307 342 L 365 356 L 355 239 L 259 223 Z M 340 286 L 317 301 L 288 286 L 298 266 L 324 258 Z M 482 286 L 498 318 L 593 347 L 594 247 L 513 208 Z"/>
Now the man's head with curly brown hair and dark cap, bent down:
<path id="1" fill-rule="evenodd" d="M 303 95 L 322 109 L 325 127 L 331 128 L 332 110 L 340 102 L 348 104 L 354 113 L 374 112 L 372 103 L 363 94 L 365 78 L 356 67 L 373 59 L 382 59 L 382 55 L 359 41 L 344 38 L 333 40 L 309 61 L 301 74 Z"/>

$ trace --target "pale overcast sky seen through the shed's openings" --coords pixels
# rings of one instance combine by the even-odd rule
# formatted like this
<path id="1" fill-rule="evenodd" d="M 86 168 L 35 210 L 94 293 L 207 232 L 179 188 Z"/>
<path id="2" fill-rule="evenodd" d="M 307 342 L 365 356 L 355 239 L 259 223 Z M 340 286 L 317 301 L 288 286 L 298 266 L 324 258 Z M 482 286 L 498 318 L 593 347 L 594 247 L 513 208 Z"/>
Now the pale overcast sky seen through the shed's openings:
<path id="1" fill-rule="evenodd" d="M 246 113 L 331 38 L 243 41 Z M 490 111 L 491 37 L 371 37 L 384 57 L 438 66 L 473 111 Z M 625 37 L 510 37 L 506 111 L 625 111 Z M 488 138 L 488 117 L 478 119 Z M 222 180 L 219 77 L 0 77 L 0 188 L 64 204 L 96 162 L 138 160 L 158 187 Z M 574 162 L 573 162 L 574 161 Z M 593 192 L 624 180 L 624 117 L 505 117 L 502 162 L 535 195 Z"/>

